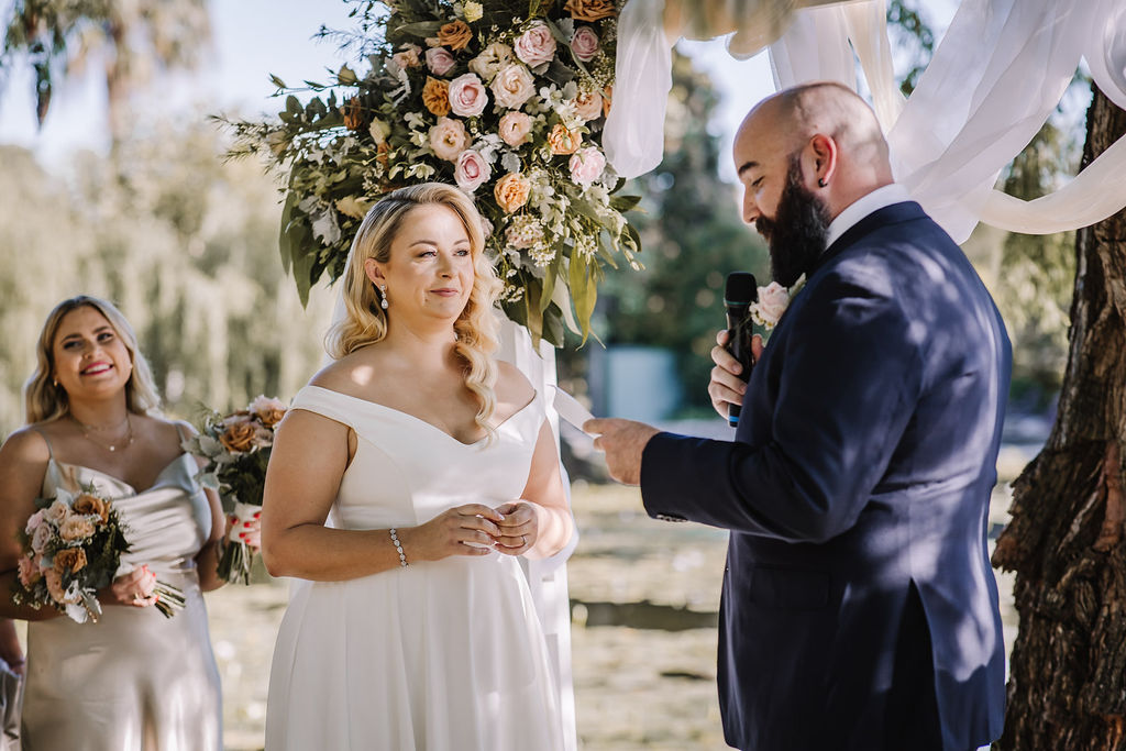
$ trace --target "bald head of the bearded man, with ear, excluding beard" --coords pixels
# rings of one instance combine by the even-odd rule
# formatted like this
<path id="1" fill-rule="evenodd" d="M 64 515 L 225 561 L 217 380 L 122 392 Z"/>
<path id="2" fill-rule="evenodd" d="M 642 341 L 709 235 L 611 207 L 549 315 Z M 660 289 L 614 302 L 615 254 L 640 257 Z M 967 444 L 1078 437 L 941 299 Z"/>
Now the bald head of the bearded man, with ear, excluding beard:
<path id="1" fill-rule="evenodd" d="M 740 177 L 779 154 L 799 159 L 811 189 L 820 191 L 833 216 L 892 182 L 887 141 L 875 113 L 834 81 L 785 89 L 747 115 L 735 135 Z"/>

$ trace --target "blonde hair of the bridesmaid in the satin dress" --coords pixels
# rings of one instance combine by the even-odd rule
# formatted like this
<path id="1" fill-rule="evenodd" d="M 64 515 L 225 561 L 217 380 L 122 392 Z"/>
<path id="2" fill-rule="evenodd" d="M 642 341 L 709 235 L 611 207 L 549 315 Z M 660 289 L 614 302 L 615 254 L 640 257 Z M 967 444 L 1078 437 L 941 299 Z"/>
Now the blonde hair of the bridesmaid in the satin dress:
<path id="1" fill-rule="evenodd" d="M 109 322 L 118 339 L 129 352 L 133 374 L 125 383 L 125 405 L 135 414 L 149 414 L 160 409 L 160 395 L 152 378 L 152 370 L 144 355 L 137 348 L 137 337 L 128 320 L 113 303 L 90 295 L 78 295 L 55 305 L 47 314 L 36 345 L 36 366 L 32 377 L 24 384 L 24 403 L 27 423 L 53 420 L 70 412 L 70 396 L 66 390 L 55 382 L 55 337 L 59 327 L 71 311 L 80 307 L 92 307 Z"/>

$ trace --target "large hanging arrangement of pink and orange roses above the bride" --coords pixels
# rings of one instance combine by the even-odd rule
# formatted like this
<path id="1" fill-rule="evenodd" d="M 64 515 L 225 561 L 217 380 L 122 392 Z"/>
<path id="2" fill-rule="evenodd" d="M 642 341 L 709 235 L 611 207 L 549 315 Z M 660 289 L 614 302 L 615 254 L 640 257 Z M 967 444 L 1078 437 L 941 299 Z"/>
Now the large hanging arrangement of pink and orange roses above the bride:
<path id="1" fill-rule="evenodd" d="M 302 299 L 343 272 L 381 196 L 437 180 L 476 199 L 508 316 L 536 341 L 561 345 L 564 324 L 586 338 L 602 266 L 620 253 L 641 268 L 624 216 L 638 198 L 615 195 L 624 180 L 601 147 L 620 0 L 357 5 L 361 30 L 333 34 L 361 53 L 357 70 L 305 81 L 328 97 L 289 93 L 276 122 L 230 123 L 232 155 L 262 153 L 288 177 L 282 257 Z"/>

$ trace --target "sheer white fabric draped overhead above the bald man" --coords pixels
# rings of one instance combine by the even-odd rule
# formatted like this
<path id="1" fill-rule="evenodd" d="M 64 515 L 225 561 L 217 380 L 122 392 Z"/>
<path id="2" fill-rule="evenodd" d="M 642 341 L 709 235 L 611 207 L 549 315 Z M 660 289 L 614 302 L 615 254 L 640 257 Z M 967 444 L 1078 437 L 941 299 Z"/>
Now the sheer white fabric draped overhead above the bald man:
<path id="1" fill-rule="evenodd" d="M 678 6 L 687 1 L 629 0 L 623 9 L 616 75 L 638 86 L 615 98 L 604 141 L 620 175 L 633 177 L 660 163 L 670 84 L 665 61 L 671 62 L 671 41 L 689 28 L 670 19 L 680 20 Z M 1124 142 L 1037 200 L 993 189 L 1004 166 L 1060 102 L 1081 57 L 1099 88 L 1126 106 L 1126 0 L 963 0 L 910 99 L 900 93 L 892 72 L 884 0 L 720 5 L 724 12 L 713 36 L 739 29 L 729 50 L 740 56 L 756 52 L 736 45 L 740 39 L 772 42 L 779 88 L 825 79 L 855 88 L 859 59 L 896 180 L 959 242 L 978 221 L 1044 234 L 1098 222 L 1126 206 Z M 779 15 L 790 23 L 771 39 Z M 698 16 L 692 18 L 698 21 Z M 763 26 L 762 18 L 774 20 Z M 759 26 L 747 26 L 752 24 Z M 699 36 L 699 24 L 690 30 Z"/>

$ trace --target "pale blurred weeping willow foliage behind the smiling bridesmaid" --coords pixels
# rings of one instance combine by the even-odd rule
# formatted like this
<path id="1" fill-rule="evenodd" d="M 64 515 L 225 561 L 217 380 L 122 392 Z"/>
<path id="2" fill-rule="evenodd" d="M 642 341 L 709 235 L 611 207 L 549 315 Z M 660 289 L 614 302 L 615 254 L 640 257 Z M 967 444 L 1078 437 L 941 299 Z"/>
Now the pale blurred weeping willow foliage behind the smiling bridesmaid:
<path id="1" fill-rule="evenodd" d="M 23 423 L 43 320 L 79 293 L 122 307 L 170 413 L 305 383 L 330 301 L 302 309 L 277 262 L 276 187 L 224 149 L 207 127 L 157 128 L 117 161 L 80 155 L 63 180 L 0 147 L 0 432 Z"/>

